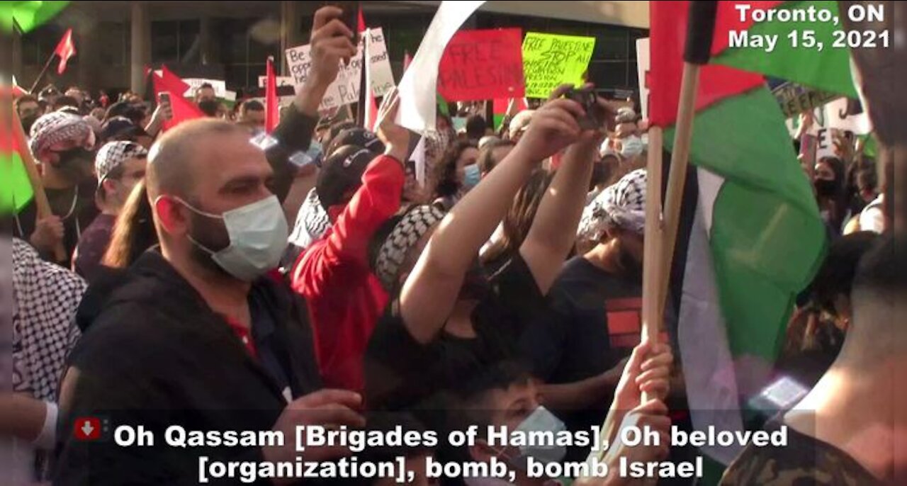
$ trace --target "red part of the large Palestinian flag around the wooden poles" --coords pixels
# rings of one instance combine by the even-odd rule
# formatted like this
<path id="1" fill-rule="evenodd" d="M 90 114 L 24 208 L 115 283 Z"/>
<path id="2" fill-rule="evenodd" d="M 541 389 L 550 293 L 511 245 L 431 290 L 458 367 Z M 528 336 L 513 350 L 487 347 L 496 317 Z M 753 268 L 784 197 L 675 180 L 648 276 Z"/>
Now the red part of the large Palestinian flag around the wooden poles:
<path id="1" fill-rule="evenodd" d="M 776 3 L 759 2 L 760 5 Z M 727 29 L 735 26 L 733 4 L 732 2 L 718 4 L 712 53 L 727 47 Z M 652 67 L 647 79 L 650 90 L 649 119 L 653 125 L 668 126 L 677 119 L 688 10 L 689 2 L 653 2 L 649 8 Z M 699 70 L 696 109 L 701 110 L 727 96 L 749 91 L 761 83 L 764 83 L 764 80 L 759 74 L 746 73 L 717 64 L 704 65 Z"/>

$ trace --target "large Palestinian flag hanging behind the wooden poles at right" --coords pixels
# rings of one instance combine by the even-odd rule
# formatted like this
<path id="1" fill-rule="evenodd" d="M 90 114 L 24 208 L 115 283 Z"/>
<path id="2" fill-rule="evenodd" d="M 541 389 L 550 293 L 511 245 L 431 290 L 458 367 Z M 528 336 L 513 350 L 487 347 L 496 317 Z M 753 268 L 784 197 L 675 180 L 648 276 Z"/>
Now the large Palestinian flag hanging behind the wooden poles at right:
<path id="1" fill-rule="evenodd" d="M 733 4 L 718 3 L 711 51 L 718 59 Z M 668 150 L 689 7 L 650 4 L 649 111 L 665 129 Z M 740 403 L 766 385 L 795 296 L 824 256 L 824 225 L 762 75 L 717 64 L 700 69 L 689 157 L 697 169 L 688 177 L 674 248 L 669 304 L 677 320 L 669 330 L 694 428 L 743 430 Z M 725 464 L 739 452 L 703 451 Z"/>

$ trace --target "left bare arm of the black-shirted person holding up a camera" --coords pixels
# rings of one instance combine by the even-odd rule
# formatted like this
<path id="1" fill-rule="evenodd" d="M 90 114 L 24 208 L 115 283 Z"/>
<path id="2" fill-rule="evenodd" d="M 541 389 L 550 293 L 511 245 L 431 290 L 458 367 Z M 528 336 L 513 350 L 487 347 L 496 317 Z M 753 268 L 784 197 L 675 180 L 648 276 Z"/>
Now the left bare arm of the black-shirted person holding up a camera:
<path id="1" fill-rule="evenodd" d="M 576 116 L 582 113 L 571 100 L 546 103 L 513 151 L 441 221 L 400 296 L 401 315 L 416 340 L 427 343 L 444 326 L 479 248 L 541 160 L 579 138 Z"/>

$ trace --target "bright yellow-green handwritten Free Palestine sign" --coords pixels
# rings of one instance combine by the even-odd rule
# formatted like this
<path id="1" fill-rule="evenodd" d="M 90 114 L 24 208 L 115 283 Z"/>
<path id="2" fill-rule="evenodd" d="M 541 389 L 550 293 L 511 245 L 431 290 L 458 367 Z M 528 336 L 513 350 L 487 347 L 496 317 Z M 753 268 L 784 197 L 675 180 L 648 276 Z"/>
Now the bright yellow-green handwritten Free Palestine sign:
<path id="1" fill-rule="evenodd" d="M 530 32 L 522 42 L 527 98 L 548 98 L 559 84 L 582 84 L 595 37 Z"/>

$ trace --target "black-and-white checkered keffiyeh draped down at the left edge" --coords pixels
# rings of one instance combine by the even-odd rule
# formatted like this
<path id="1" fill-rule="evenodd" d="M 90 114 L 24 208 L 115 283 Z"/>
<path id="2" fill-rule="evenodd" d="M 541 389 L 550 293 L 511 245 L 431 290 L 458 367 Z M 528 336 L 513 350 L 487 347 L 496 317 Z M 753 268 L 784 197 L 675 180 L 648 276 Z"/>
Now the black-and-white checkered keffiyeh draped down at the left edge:
<path id="1" fill-rule="evenodd" d="M 13 239 L 13 391 L 56 403 L 67 352 L 79 338 L 73 318 L 88 285 Z"/>

